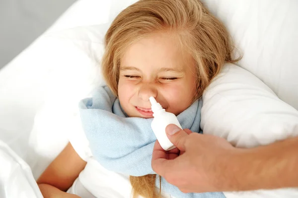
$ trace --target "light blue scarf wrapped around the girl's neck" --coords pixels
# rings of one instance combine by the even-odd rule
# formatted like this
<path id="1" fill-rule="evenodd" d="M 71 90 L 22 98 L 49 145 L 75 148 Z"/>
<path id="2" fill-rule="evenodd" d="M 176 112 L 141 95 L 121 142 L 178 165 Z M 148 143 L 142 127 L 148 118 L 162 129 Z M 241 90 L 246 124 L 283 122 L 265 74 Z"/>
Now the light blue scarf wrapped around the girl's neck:
<path id="1" fill-rule="evenodd" d="M 202 100 L 196 100 L 177 116 L 182 128 L 199 133 L 201 107 Z M 106 86 L 100 87 L 93 98 L 83 99 L 79 108 L 92 154 L 103 167 L 132 176 L 155 174 L 151 168 L 156 141 L 150 126 L 152 118 L 128 117 Z M 177 198 L 225 198 L 223 193 L 183 194 L 163 178 L 161 188 Z"/>

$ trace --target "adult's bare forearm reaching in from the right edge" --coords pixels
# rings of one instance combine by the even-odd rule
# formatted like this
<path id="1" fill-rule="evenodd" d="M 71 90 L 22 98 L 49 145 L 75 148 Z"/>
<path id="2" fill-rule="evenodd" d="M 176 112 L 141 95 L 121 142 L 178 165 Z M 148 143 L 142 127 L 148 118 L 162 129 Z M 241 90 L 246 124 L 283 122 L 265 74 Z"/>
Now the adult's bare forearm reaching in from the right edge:
<path id="1" fill-rule="evenodd" d="M 227 163 L 228 190 L 298 187 L 298 137 L 268 146 L 239 149 Z"/>

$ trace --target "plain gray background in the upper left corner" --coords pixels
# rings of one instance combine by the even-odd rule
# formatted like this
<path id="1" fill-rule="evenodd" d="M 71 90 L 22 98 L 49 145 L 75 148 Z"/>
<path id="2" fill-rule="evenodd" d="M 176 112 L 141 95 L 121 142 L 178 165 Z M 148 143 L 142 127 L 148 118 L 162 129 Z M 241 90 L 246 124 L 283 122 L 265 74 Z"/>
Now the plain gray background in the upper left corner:
<path id="1" fill-rule="evenodd" d="M 75 0 L 0 0 L 0 69 L 40 36 Z"/>

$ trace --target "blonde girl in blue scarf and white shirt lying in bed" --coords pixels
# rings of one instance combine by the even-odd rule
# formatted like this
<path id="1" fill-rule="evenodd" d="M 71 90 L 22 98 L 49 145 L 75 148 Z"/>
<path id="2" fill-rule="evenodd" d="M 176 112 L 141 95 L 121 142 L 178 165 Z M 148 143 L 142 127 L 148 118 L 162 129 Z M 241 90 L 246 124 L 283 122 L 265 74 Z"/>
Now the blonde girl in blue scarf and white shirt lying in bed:
<path id="1" fill-rule="evenodd" d="M 198 99 L 224 63 L 235 61 L 230 43 L 224 25 L 199 0 L 140 0 L 123 10 L 105 36 L 102 72 L 108 87 L 80 103 L 91 152 L 76 152 L 70 141 L 37 181 L 43 196 L 113 197 L 98 187 L 104 166 L 135 175 L 134 197 L 159 197 L 155 186 L 185 198 L 223 197 L 184 196 L 149 174 L 156 140 L 149 97 L 177 115 L 182 127 L 199 132 Z"/>

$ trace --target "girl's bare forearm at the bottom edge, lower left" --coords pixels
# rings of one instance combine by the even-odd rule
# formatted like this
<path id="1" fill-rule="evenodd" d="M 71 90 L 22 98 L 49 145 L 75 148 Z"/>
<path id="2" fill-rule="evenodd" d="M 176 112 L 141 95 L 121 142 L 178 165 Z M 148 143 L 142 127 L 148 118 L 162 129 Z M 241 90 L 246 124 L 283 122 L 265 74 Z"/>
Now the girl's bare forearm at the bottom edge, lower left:
<path id="1" fill-rule="evenodd" d="M 49 184 L 39 184 L 38 187 L 44 198 L 79 198 L 76 195 L 65 193 Z"/>

